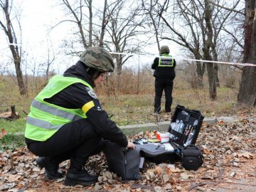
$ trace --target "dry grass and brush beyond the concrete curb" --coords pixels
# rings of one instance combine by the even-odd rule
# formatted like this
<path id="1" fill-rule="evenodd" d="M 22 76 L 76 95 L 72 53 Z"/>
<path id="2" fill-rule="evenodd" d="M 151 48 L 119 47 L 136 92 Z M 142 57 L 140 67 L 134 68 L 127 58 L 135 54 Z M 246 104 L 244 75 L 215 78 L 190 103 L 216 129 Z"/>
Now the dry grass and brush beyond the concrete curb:
<path id="1" fill-rule="evenodd" d="M 238 72 L 234 73 L 236 78 L 233 77 L 230 80 L 233 85 L 228 87 L 225 85 L 225 75 L 220 76 L 220 87 L 217 90 L 218 99 L 215 101 L 211 101 L 208 97 L 207 78 L 203 80 L 205 87 L 192 89 L 189 79 L 193 78 L 191 76 L 193 73 L 188 78 L 188 72 L 189 70 L 176 70 L 172 111 L 176 105 L 183 105 L 189 109 L 200 110 L 206 117 L 237 114 L 241 108 L 241 106 L 236 105 Z M 21 115 L 21 119 L 16 122 L 0 121 L 0 127 L 4 127 L 9 132 L 23 131 L 26 113 L 29 112 L 31 101 L 46 84 L 44 78 L 29 77 L 27 79 L 28 95 L 23 97 L 19 95 L 14 78 L 9 76 L 1 76 L 0 78 L 0 112 L 10 109 L 10 105 L 16 105 L 16 111 Z M 152 77 L 149 68 L 142 69 L 139 78 L 138 73 L 130 69 L 124 70 L 120 77 L 114 74 L 108 77 L 105 85 L 97 87 L 95 92 L 100 98 L 103 109 L 111 114 L 111 118 L 119 125 L 156 122 L 156 117 L 152 115 L 154 110 L 154 77 Z M 164 109 L 164 95 L 161 108 Z"/>

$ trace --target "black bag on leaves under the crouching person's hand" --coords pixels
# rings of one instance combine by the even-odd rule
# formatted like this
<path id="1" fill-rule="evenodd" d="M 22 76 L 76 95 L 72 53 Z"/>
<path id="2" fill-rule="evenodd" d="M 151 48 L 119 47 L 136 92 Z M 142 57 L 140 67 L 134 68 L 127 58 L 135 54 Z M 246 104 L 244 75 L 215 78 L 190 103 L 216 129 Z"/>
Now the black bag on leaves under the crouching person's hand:
<path id="1" fill-rule="evenodd" d="M 113 142 L 106 142 L 103 150 L 107 165 L 114 174 L 122 177 L 122 181 L 138 180 L 140 154 L 137 149 L 124 149 Z"/>

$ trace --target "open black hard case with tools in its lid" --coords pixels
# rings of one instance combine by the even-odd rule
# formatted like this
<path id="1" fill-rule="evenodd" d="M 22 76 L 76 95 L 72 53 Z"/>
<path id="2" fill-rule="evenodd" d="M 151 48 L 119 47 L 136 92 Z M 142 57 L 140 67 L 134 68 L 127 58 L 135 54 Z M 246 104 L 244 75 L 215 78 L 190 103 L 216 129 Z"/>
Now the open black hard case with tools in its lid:
<path id="1" fill-rule="evenodd" d="M 168 129 L 171 134 L 169 143 L 134 143 L 137 144 L 137 149 L 146 160 L 156 164 L 167 161 L 173 163 L 181 158 L 181 151 L 185 146 L 196 144 L 203 118 L 200 111 L 177 105 Z M 166 144 L 171 146 L 172 150 L 167 149 Z"/>

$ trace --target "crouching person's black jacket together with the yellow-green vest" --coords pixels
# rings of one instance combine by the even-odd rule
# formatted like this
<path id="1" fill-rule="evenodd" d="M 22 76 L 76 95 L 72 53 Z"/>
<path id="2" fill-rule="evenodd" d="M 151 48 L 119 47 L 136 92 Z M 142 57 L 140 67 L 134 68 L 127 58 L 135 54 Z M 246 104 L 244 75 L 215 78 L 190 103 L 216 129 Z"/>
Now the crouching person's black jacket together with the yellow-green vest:
<path id="1" fill-rule="evenodd" d="M 31 105 L 26 142 L 46 141 L 63 124 L 87 118 L 104 139 L 127 146 L 127 137 L 102 110 L 92 87 L 87 67 L 81 62 L 68 68 L 63 76 L 51 78 Z"/>

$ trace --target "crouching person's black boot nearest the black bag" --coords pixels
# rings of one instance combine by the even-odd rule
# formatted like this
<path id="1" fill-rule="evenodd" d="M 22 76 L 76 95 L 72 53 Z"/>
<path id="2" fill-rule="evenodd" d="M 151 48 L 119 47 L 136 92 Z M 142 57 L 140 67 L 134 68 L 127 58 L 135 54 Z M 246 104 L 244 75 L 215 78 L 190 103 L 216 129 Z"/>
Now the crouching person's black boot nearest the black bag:
<path id="1" fill-rule="evenodd" d="M 65 178 L 65 186 L 75 186 L 76 184 L 89 186 L 97 182 L 97 176 L 89 174 L 85 169 L 68 169 Z"/>

